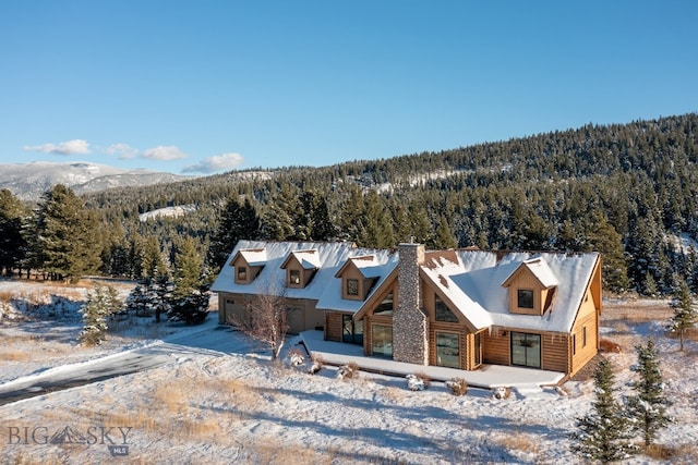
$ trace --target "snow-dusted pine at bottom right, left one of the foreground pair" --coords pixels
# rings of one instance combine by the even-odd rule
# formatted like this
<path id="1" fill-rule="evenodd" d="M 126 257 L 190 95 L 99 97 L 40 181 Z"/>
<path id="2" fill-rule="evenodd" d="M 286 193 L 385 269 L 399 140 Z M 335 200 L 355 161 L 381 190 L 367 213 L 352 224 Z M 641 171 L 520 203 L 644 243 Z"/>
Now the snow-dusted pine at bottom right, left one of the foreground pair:
<path id="1" fill-rule="evenodd" d="M 636 448 L 628 442 L 629 421 L 614 399 L 613 369 L 606 359 L 599 362 L 593 374 L 597 399 L 593 411 L 577 419 L 578 431 L 570 435 L 574 452 L 602 463 L 626 458 Z"/>

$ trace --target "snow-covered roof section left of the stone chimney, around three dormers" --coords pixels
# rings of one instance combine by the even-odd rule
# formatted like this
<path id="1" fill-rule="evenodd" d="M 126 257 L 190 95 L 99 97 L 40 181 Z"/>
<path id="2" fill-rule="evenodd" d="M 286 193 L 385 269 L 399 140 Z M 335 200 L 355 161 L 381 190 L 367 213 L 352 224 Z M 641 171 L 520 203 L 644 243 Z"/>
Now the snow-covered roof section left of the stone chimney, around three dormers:
<path id="1" fill-rule="evenodd" d="M 260 274 L 250 284 L 236 283 L 234 267 L 230 266 L 231 261 L 234 260 L 238 254 L 248 254 L 243 255 L 248 259 L 250 250 L 262 249 L 265 258 L 262 265 L 266 266 Z M 312 254 L 310 253 L 311 250 L 313 250 Z M 301 264 L 305 262 L 305 265 L 317 269 L 305 287 L 296 289 L 286 287 L 285 285 L 286 271 L 281 268 L 281 265 L 291 254 L 296 255 Z M 363 259 L 369 256 L 371 257 L 370 259 Z M 262 253 L 258 253 L 257 257 L 262 257 Z M 364 276 L 377 278 L 377 282 L 371 292 L 378 289 L 383 280 L 397 266 L 397 254 L 395 252 L 359 248 L 349 242 L 240 241 L 228 257 L 226 266 L 220 270 L 210 290 L 240 294 L 284 292 L 290 298 L 316 299 L 318 309 L 356 313 L 364 302 L 341 298 L 341 279 L 335 277 L 337 271 L 353 257 L 360 258 L 353 260 L 353 262 L 361 264 Z"/>

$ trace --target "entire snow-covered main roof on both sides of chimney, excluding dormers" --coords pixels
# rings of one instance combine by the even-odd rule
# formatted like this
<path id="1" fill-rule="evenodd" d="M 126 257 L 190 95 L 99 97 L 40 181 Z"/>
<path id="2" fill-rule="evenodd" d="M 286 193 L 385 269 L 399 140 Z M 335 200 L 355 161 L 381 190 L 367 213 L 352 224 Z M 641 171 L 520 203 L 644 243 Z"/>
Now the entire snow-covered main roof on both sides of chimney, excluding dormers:
<path id="1" fill-rule="evenodd" d="M 251 284 L 237 284 L 230 262 L 241 254 L 250 265 L 265 266 Z M 317 271 L 303 289 L 286 287 L 281 264 L 289 256 Z M 483 250 L 426 252 L 422 278 L 446 296 L 477 329 L 493 326 L 568 332 L 591 281 L 599 254 L 498 253 Z M 262 260 L 264 259 L 264 260 Z M 241 294 L 281 293 L 290 298 L 316 299 L 316 308 L 357 313 L 397 268 L 399 253 L 358 248 L 351 243 L 240 241 L 214 282 L 212 291 Z M 342 298 L 341 273 L 353 264 L 365 278 L 375 278 L 364 301 Z M 556 286 L 553 304 L 542 316 L 509 311 L 506 283 L 526 267 L 543 287 Z"/>

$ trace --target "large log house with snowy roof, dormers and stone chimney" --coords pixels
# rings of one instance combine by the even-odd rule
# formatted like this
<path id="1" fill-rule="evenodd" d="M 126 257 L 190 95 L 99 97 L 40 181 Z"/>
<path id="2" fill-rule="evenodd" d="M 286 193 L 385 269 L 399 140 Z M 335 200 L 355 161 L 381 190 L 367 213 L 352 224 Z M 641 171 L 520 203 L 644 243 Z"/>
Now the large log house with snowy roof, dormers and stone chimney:
<path id="1" fill-rule="evenodd" d="M 322 330 L 365 355 L 417 365 L 571 376 L 599 346 L 597 253 L 241 241 L 212 291 L 220 323 L 249 318 L 258 294 L 282 295 L 289 332 Z"/>

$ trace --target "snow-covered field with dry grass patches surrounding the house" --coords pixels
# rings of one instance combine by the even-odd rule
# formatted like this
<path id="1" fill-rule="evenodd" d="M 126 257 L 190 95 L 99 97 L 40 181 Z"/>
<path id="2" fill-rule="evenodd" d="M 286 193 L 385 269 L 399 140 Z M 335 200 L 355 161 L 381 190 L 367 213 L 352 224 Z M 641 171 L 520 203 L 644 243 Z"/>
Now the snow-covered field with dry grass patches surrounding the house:
<path id="1" fill-rule="evenodd" d="M 0 281 L 0 391 L 104 357 L 163 363 L 0 406 L 2 463 L 580 462 L 567 437 L 590 408 L 591 380 L 498 400 L 473 388 L 454 396 L 437 382 L 410 391 L 405 379 L 364 372 L 339 380 L 330 367 L 313 376 L 272 364 L 263 347 L 218 328 L 215 314 L 193 328 L 115 321 L 108 341 L 88 348 L 76 342 L 87 290 Z M 48 305 L 27 304 L 37 301 Z M 651 335 L 674 400 L 676 421 L 658 440 L 666 457 L 629 463 L 698 462 L 698 344 L 677 352 L 663 331 L 670 315 L 666 302 L 605 303 L 602 336 L 623 347 L 609 355 L 618 388 L 633 377 L 633 346 Z"/>

